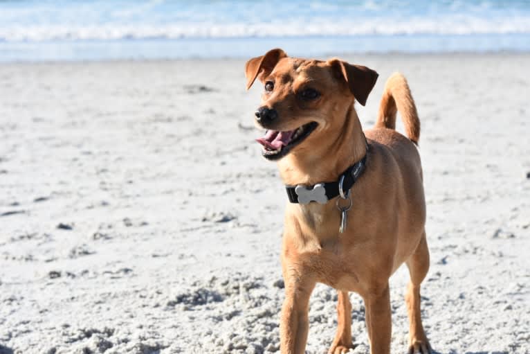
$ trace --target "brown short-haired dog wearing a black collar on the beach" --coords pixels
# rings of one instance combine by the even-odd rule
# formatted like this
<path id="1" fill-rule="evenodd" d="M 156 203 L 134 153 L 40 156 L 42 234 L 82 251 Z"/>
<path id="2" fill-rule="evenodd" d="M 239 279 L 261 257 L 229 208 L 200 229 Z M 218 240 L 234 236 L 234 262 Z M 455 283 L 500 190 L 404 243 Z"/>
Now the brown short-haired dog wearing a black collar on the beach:
<path id="1" fill-rule="evenodd" d="M 388 279 L 402 263 L 410 272 L 409 351 L 431 352 L 420 317 L 429 251 L 414 145 L 419 119 L 405 78 L 394 74 L 376 126 L 363 133 L 354 99 L 365 105 L 377 77 L 367 67 L 288 57 L 281 49 L 246 63 L 247 89 L 256 78 L 265 85 L 255 114 L 268 131 L 257 140 L 264 157 L 277 160 L 291 200 L 282 247 L 282 353 L 304 353 L 317 282 L 338 290 L 338 330 L 329 353 L 352 347 L 350 291 L 365 301 L 371 353 L 390 353 Z M 398 110 L 408 138 L 394 130 Z"/>

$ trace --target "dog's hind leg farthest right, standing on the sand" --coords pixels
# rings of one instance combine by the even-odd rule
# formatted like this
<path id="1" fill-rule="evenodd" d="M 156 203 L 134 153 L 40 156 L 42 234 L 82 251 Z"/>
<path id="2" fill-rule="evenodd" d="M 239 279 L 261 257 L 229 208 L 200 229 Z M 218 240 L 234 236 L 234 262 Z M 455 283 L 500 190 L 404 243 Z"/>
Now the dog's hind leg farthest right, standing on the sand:
<path id="1" fill-rule="evenodd" d="M 419 287 L 423 278 L 429 270 L 429 249 L 425 231 L 414 253 L 407 260 L 410 273 L 405 302 L 407 303 L 408 319 L 410 321 L 409 349 L 408 353 L 430 354 L 432 349 L 428 342 L 423 325 L 421 324 L 420 294 Z"/>

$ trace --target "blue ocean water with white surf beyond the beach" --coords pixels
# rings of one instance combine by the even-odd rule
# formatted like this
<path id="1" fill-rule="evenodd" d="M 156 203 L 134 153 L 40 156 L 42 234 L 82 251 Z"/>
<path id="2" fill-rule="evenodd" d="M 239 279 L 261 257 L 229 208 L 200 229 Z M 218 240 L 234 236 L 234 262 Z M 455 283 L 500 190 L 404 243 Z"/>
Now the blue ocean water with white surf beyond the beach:
<path id="1" fill-rule="evenodd" d="M 0 61 L 530 51 L 530 1 L 0 0 Z"/>

